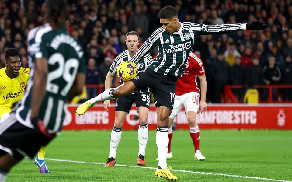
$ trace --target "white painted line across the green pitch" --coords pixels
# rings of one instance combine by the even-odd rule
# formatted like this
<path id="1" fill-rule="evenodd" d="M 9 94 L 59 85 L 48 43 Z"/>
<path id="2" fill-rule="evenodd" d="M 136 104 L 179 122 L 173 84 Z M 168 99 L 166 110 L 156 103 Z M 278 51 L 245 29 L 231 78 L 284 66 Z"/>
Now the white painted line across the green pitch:
<path id="1" fill-rule="evenodd" d="M 70 163 L 83 163 L 83 164 L 100 164 L 100 165 L 105 165 L 105 163 L 84 162 L 84 161 L 74 161 L 74 160 L 64 160 L 64 159 L 48 159 L 48 158 L 46 158 L 46 160 L 53 160 L 53 161 L 59 161 L 59 162 L 70 162 Z M 128 165 L 124 165 L 124 164 L 116 164 L 116 166 L 136 167 L 136 168 L 146 168 L 146 169 L 157 169 L 156 167 L 128 166 Z M 288 181 L 288 180 L 275 180 L 275 179 L 262 178 L 262 177 L 238 176 L 238 175 L 221 174 L 221 173 L 205 173 L 205 172 L 177 170 L 177 169 L 171 169 L 171 170 L 172 171 L 183 172 L 183 173 L 208 174 L 208 175 L 218 175 L 218 176 L 227 176 L 227 177 L 238 177 L 238 178 L 247 178 L 247 179 L 256 179 L 256 180 L 266 180 L 266 181 L 292 182 L 292 181 Z"/>

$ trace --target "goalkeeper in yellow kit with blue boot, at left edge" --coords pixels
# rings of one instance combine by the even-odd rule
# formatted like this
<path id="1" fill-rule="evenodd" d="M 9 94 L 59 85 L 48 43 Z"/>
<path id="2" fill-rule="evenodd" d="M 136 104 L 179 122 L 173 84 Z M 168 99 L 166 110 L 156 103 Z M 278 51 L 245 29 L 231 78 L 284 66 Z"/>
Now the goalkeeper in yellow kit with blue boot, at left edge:
<path id="1" fill-rule="evenodd" d="M 0 69 L 0 118 L 10 113 L 13 105 L 22 99 L 24 89 L 30 76 L 30 69 L 21 67 L 19 50 L 5 50 L 5 68 Z M 40 173 L 49 173 L 44 160 L 47 146 L 40 148 L 36 165 Z"/>

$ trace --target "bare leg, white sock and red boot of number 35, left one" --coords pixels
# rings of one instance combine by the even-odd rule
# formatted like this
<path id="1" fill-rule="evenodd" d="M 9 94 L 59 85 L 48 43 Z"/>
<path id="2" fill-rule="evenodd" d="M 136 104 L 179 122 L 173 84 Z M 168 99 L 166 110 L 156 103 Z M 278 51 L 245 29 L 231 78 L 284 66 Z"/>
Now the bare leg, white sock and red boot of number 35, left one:
<path id="1" fill-rule="evenodd" d="M 122 127 L 125 121 L 127 112 L 115 111 L 115 124 L 110 135 L 109 159 L 107 159 L 105 167 L 112 167 L 116 164 L 116 149 L 122 137 Z"/>

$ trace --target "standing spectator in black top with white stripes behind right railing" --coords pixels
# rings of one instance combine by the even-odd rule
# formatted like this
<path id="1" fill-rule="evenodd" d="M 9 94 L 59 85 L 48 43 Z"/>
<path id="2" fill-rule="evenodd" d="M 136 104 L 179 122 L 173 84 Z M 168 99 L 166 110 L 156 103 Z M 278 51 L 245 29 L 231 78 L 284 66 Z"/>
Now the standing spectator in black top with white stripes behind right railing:
<path id="1" fill-rule="evenodd" d="M 276 65 L 276 58 L 271 56 L 269 57 L 269 65 L 264 66 L 262 69 L 262 74 L 263 74 L 263 82 L 265 85 L 275 85 L 279 84 L 281 80 L 281 72 L 280 68 Z M 273 101 L 277 100 L 277 89 L 273 89 Z M 263 100 L 268 99 L 268 94 L 269 90 L 264 89 L 264 95 L 263 95 Z"/>

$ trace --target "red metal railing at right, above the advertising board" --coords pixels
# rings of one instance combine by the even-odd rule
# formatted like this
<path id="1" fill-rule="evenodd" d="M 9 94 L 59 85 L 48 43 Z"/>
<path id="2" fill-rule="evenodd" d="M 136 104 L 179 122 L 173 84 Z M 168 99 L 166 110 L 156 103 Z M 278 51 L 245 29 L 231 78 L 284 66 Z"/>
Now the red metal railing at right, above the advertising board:
<path id="1" fill-rule="evenodd" d="M 273 89 L 292 89 L 292 85 L 254 85 L 255 89 L 269 89 L 269 97 L 268 101 L 262 101 L 261 97 L 259 97 L 259 103 L 292 103 L 292 101 L 273 101 L 272 99 L 272 90 Z M 234 96 L 231 89 L 245 89 L 242 85 L 225 85 L 224 86 L 224 96 L 225 103 L 242 103 L 242 101 L 238 101 Z"/>

